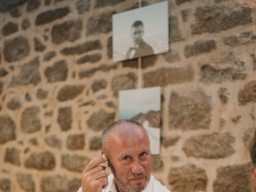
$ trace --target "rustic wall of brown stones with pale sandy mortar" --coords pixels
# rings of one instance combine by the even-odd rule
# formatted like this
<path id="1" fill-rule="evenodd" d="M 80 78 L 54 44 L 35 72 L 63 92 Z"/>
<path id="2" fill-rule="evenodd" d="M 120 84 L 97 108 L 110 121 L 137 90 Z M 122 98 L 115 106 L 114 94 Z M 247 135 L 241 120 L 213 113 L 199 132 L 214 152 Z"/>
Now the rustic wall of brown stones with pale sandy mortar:
<path id="1" fill-rule="evenodd" d="M 118 90 L 138 87 L 138 60 L 112 61 L 111 21 L 137 7 L 0 0 L 0 191 L 76 192 Z M 249 192 L 256 2 L 169 0 L 169 25 L 170 52 L 142 58 L 142 87 L 163 90 L 152 174 L 172 192 Z"/>

